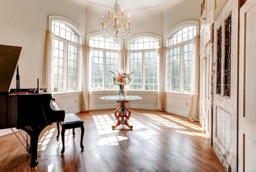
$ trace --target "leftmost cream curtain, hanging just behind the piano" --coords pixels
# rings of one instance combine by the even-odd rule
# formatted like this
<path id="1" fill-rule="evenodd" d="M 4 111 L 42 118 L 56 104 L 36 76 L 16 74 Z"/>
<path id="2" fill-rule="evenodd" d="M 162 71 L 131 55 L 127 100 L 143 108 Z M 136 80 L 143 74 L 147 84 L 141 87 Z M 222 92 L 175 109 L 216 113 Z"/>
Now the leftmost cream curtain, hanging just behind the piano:
<path id="1" fill-rule="evenodd" d="M 46 30 L 46 86 L 47 92 L 53 96 L 53 33 L 50 30 Z"/>

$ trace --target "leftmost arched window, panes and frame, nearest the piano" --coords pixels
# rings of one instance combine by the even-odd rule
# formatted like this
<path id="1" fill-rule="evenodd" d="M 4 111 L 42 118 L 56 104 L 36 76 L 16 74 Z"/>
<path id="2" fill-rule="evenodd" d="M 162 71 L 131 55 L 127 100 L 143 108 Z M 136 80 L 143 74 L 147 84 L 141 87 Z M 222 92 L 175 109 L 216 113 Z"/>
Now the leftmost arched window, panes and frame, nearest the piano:
<path id="1" fill-rule="evenodd" d="M 53 92 L 81 90 L 80 63 L 83 33 L 72 21 L 50 16 L 53 32 Z"/>

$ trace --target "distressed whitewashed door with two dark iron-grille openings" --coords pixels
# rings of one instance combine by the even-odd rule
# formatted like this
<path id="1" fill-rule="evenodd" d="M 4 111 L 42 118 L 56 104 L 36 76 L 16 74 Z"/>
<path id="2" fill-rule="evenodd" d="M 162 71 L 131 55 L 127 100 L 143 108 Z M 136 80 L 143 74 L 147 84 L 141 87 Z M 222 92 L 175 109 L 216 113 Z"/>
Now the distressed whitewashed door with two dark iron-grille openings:
<path id="1" fill-rule="evenodd" d="M 217 1 L 216 1 L 217 2 Z M 213 149 L 226 172 L 237 171 L 238 1 L 225 2 L 214 22 Z"/>

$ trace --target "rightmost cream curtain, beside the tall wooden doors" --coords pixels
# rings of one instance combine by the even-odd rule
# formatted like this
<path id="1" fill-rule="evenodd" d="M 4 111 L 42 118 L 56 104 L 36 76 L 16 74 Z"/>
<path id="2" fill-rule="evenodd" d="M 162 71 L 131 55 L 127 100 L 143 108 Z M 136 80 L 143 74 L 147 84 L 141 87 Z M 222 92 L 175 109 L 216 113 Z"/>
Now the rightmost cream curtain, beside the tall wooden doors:
<path id="1" fill-rule="evenodd" d="M 188 119 L 199 121 L 198 114 L 199 99 L 199 35 L 194 37 L 193 54 L 192 54 L 192 71 L 190 82 L 190 101 L 188 108 Z"/>

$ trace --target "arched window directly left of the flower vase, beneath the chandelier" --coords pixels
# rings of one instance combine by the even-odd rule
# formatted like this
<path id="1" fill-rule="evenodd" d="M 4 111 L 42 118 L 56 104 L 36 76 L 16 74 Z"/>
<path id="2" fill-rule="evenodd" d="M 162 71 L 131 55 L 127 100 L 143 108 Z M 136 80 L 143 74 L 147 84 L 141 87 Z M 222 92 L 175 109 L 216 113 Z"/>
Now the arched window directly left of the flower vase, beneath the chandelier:
<path id="1" fill-rule="evenodd" d="M 117 90 L 113 84 L 115 70 L 120 70 L 120 43 L 104 40 L 101 35 L 89 35 L 91 47 L 91 90 Z"/>

